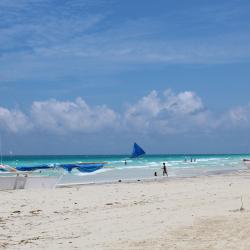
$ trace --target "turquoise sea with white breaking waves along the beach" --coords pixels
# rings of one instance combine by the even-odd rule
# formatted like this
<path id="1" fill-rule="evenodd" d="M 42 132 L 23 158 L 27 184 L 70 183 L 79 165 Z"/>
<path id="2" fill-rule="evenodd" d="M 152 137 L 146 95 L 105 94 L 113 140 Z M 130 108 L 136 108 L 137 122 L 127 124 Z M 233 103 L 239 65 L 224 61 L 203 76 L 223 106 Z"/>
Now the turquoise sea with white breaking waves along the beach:
<path id="1" fill-rule="evenodd" d="M 191 162 L 191 158 L 195 162 Z M 73 170 L 68 174 L 63 170 L 45 170 L 36 175 L 62 175 L 61 183 L 110 182 L 118 180 L 135 180 L 152 178 L 157 172 L 162 176 L 161 166 L 167 163 L 169 177 L 197 176 L 221 171 L 246 169 L 242 159 L 250 155 L 145 155 L 130 159 L 126 155 L 56 155 L 56 156 L 3 156 L 4 164 L 16 166 L 33 166 L 40 164 L 59 164 L 76 162 L 107 162 L 106 166 L 94 173 L 80 173 Z M 127 161 L 127 165 L 124 161 Z"/>

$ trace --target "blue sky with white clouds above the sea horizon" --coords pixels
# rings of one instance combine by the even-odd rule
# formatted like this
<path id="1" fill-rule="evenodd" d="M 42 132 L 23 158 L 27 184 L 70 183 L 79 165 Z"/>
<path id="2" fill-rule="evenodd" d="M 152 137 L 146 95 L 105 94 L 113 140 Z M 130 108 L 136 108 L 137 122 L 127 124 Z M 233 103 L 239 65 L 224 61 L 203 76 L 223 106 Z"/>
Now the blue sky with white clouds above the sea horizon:
<path id="1" fill-rule="evenodd" d="M 8 154 L 250 152 L 247 0 L 1 0 Z"/>

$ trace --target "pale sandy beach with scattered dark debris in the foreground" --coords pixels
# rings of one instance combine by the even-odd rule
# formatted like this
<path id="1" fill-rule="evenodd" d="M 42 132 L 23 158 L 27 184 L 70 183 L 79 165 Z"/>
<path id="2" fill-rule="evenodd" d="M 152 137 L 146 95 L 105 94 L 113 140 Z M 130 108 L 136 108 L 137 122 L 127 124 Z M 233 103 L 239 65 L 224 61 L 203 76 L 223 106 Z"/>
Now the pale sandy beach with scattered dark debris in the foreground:
<path id="1" fill-rule="evenodd" d="M 250 249 L 248 171 L 0 195 L 0 249 Z"/>

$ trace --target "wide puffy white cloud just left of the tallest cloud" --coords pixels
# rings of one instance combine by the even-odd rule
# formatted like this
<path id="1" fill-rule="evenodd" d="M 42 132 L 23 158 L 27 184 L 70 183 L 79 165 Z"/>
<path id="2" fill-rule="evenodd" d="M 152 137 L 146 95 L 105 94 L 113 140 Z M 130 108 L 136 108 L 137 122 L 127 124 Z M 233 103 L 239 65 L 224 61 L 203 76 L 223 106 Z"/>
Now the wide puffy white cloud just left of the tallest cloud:
<path id="1" fill-rule="evenodd" d="M 82 98 L 75 102 L 34 102 L 31 117 L 37 128 L 56 132 L 95 132 L 114 127 L 117 122 L 112 109 L 105 105 L 90 107 Z"/>

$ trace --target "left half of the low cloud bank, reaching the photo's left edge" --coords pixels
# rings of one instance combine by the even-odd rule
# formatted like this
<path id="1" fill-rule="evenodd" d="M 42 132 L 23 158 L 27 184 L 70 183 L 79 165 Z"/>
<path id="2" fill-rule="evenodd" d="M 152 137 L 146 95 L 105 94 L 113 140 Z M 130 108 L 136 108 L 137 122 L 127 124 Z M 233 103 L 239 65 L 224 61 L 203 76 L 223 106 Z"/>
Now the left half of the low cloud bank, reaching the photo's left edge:
<path id="1" fill-rule="evenodd" d="M 112 109 L 105 105 L 90 107 L 82 98 L 74 102 L 35 101 L 27 115 L 0 107 L 0 128 L 15 133 L 30 130 L 91 133 L 115 128 L 117 122 L 118 115 Z"/>

